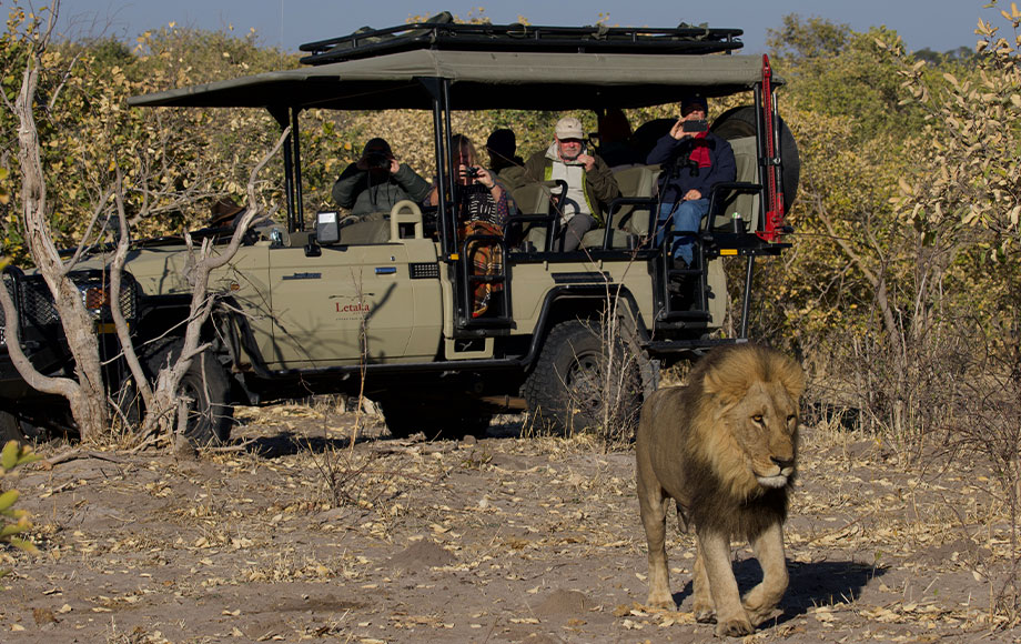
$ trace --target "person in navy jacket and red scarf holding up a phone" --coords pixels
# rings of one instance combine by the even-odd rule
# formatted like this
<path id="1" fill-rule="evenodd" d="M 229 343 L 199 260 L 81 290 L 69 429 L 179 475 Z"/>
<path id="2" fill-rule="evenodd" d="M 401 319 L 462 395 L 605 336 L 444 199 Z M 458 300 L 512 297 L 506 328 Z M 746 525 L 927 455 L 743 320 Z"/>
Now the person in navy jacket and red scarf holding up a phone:
<path id="1" fill-rule="evenodd" d="M 737 177 L 734 150 L 725 139 L 705 129 L 709 104 L 689 95 L 680 102 L 680 118 L 649 152 L 646 163 L 663 165 L 659 175 L 658 240 L 673 220 L 674 231 L 696 232 L 709 212 L 712 187 Z M 698 123 L 699 128 L 691 128 Z M 674 268 L 686 269 L 694 259 L 694 239 L 675 238 Z"/>

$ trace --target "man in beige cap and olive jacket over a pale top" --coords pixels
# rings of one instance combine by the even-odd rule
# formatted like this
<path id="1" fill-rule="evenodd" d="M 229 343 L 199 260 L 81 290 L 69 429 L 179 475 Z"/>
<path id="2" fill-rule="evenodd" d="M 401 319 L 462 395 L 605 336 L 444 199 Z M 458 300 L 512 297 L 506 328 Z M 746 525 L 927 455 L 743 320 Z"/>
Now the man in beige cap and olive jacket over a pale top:
<path id="1" fill-rule="evenodd" d="M 567 182 L 560 212 L 564 251 L 576 250 L 586 232 L 602 224 L 609 203 L 620 197 L 620 188 L 606 162 L 589 154 L 582 121 L 564 117 L 557 121 L 553 143 L 525 162 L 525 181 Z"/>

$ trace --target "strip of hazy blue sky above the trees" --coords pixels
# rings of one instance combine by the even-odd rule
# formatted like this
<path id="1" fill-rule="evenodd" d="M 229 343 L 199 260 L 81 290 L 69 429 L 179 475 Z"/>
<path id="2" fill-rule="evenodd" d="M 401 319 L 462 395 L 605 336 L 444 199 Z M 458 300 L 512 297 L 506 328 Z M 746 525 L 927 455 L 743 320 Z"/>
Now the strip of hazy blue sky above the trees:
<path id="1" fill-rule="evenodd" d="M 47 0 L 22 0 L 40 7 Z M 494 23 L 586 26 L 600 19 L 620 27 L 675 27 L 679 22 L 745 30 L 746 53 L 766 50 L 767 30 L 784 16 L 823 18 L 856 31 L 886 26 L 913 51 L 972 49 L 982 18 L 997 21 L 999 9 L 988 0 L 63 0 L 60 32 L 70 39 L 114 37 L 133 41 L 139 34 L 175 22 L 208 30 L 255 29 L 260 44 L 296 51 L 297 46 L 346 36 L 361 27 L 395 27 L 413 16 L 449 11 L 458 18 L 485 16 Z M 0 2 L 6 4 L 6 2 Z M 1001 4 L 1003 1 L 1001 0 Z M 484 7 L 485 9 L 481 9 Z M 1009 2 L 1007 3 L 1009 7 Z M 999 19 L 998 24 L 1003 24 Z"/>

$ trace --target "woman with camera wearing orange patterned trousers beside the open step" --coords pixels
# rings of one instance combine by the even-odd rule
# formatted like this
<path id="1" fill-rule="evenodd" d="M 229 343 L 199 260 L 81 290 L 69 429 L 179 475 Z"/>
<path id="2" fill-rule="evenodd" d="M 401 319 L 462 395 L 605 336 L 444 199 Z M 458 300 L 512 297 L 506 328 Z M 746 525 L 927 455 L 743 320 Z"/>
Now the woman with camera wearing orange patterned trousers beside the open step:
<path id="1" fill-rule="evenodd" d="M 454 185 L 454 202 L 457 204 L 459 221 L 457 239 L 484 234 L 504 237 L 507 218 L 514 202 L 510 194 L 495 179 L 492 170 L 476 164 L 475 145 L 464 134 L 451 137 L 451 154 L 457 169 Z M 429 195 L 433 205 L 439 203 L 437 188 Z M 468 244 L 465 261 L 471 261 L 476 275 L 499 275 L 503 273 L 504 258 L 501 246 L 487 240 L 475 240 Z M 478 282 L 473 293 L 472 318 L 479 318 L 489 310 L 493 293 L 502 291 L 501 282 Z"/>

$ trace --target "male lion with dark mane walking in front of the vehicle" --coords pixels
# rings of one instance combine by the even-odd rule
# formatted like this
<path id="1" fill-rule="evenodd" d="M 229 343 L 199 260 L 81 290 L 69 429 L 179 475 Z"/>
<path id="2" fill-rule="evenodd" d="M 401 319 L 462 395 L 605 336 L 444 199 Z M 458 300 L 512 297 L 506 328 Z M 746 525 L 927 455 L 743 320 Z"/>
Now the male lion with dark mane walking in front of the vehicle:
<path id="1" fill-rule="evenodd" d="M 649 547 L 653 607 L 676 610 L 666 554 L 666 512 L 677 504 L 694 525 L 695 617 L 718 636 L 748 635 L 787 590 L 782 524 L 798 452 L 801 368 L 752 344 L 715 349 L 683 388 L 655 392 L 636 437 L 638 503 Z M 730 564 L 730 539 L 751 543 L 762 581 L 744 597 Z"/>

